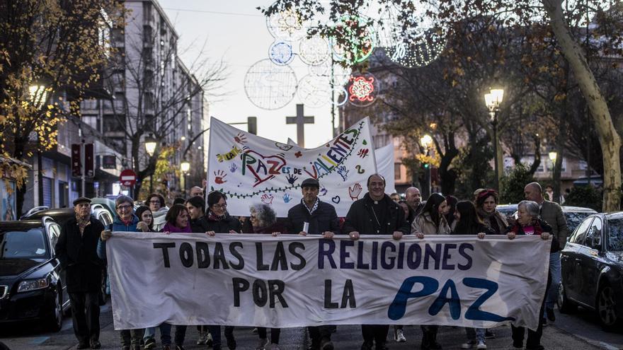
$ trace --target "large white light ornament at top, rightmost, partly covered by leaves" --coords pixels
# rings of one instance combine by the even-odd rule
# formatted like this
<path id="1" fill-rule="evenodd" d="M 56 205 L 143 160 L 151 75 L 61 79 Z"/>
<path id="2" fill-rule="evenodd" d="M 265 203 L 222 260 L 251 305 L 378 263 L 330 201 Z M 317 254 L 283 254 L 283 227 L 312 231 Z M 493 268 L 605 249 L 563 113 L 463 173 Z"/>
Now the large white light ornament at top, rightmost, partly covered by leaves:
<path id="1" fill-rule="evenodd" d="M 390 7 L 381 16 L 382 28 L 377 27 L 379 46 L 385 47 L 392 62 L 413 68 L 433 62 L 447 42 L 447 30 L 436 25 L 428 13 L 437 11 L 436 1 L 413 0 L 416 11 L 411 15 L 415 27 L 404 28 L 399 21 L 400 11 Z"/>

